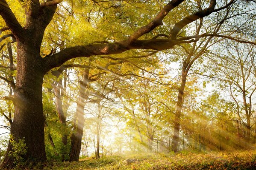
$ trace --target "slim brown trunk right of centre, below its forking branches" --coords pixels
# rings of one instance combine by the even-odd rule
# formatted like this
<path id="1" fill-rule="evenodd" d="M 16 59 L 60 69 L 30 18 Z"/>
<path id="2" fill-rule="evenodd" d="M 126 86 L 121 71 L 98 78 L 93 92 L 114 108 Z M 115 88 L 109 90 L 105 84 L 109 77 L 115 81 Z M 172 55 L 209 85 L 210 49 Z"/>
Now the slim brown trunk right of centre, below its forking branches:
<path id="1" fill-rule="evenodd" d="M 175 118 L 174 118 L 174 136 L 173 136 L 172 143 L 171 143 L 171 149 L 174 152 L 178 151 L 178 146 L 179 146 L 180 116 L 181 116 L 182 105 L 183 105 L 183 96 L 184 96 L 184 89 L 185 89 L 185 85 L 186 85 L 186 77 L 187 77 L 187 72 L 185 71 L 184 66 L 183 66 L 182 81 L 181 81 L 181 85 L 179 87 L 177 109 L 176 109 L 176 114 L 175 114 Z"/>

